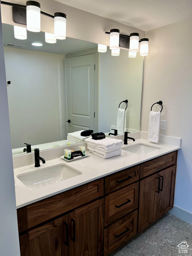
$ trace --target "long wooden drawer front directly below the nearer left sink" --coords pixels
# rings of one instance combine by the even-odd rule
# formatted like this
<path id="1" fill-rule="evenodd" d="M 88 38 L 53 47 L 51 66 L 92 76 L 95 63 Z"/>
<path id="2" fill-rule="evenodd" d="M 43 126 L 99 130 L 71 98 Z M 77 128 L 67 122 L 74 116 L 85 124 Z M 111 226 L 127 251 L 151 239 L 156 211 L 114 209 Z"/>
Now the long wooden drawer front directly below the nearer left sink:
<path id="1" fill-rule="evenodd" d="M 19 232 L 103 196 L 103 179 L 17 210 Z"/>

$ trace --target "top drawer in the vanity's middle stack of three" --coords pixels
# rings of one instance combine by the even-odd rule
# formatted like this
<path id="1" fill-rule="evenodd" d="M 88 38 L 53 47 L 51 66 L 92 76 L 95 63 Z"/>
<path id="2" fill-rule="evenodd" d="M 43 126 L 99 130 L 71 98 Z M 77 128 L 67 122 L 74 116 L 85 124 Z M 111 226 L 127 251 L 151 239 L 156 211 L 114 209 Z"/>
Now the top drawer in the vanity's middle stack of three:
<path id="1" fill-rule="evenodd" d="M 139 165 L 125 169 L 105 178 L 105 194 L 139 180 Z"/>

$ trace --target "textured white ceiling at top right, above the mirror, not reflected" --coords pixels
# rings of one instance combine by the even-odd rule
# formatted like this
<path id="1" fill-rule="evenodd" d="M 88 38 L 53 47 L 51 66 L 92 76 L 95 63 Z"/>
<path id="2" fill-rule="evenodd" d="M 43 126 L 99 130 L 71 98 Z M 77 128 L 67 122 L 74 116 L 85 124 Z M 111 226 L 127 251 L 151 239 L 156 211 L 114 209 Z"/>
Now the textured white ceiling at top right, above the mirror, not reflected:
<path id="1" fill-rule="evenodd" d="M 192 19 L 192 0 L 54 0 L 148 31 Z"/>

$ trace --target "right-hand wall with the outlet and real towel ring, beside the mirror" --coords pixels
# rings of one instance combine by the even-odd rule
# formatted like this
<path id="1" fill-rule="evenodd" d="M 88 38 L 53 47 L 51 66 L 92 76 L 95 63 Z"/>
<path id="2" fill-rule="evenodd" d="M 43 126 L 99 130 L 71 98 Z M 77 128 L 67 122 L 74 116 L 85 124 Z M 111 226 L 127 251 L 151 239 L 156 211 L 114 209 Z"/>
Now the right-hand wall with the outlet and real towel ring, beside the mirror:
<path id="1" fill-rule="evenodd" d="M 146 32 L 142 131 L 148 131 L 151 105 L 163 101 L 161 134 L 182 138 L 174 205 L 192 213 L 192 20 Z M 157 108 L 154 108 L 155 110 Z"/>

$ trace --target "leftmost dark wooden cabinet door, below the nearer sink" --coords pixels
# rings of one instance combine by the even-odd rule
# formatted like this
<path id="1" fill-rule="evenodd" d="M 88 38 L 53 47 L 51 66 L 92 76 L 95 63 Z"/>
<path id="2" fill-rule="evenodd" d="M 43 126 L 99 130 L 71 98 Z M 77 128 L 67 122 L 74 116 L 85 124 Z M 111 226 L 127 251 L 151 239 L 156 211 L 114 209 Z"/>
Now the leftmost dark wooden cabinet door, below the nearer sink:
<path id="1" fill-rule="evenodd" d="M 19 237 L 21 256 L 68 256 L 68 215 Z"/>

